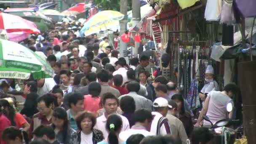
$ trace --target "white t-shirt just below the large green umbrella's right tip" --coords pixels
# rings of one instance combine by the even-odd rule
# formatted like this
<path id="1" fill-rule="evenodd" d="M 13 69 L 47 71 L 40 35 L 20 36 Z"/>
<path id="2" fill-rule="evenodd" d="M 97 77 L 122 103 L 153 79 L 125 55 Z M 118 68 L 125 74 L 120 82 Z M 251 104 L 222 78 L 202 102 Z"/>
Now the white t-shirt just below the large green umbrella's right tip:
<path id="1" fill-rule="evenodd" d="M 39 96 L 43 96 L 47 93 L 49 93 L 53 87 L 56 85 L 53 78 L 45 78 L 45 83 L 43 84 L 42 88 L 37 88 L 37 94 Z"/>

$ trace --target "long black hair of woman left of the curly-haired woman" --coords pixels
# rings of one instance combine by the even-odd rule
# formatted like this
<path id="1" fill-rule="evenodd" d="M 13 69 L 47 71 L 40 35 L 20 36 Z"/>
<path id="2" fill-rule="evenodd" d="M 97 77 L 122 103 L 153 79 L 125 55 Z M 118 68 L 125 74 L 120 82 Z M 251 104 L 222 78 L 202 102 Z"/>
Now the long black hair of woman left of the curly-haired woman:
<path id="1" fill-rule="evenodd" d="M 53 117 L 56 117 L 58 119 L 64 120 L 63 126 L 62 126 L 62 136 L 63 136 L 63 142 L 64 144 L 68 141 L 67 136 L 69 134 L 68 128 L 69 128 L 69 121 L 67 118 L 67 112 L 64 108 L 62 107 L 56 107 L 53 109 Z M 56 126 L 52 123 L 53 129 L 56 128 Z"/>

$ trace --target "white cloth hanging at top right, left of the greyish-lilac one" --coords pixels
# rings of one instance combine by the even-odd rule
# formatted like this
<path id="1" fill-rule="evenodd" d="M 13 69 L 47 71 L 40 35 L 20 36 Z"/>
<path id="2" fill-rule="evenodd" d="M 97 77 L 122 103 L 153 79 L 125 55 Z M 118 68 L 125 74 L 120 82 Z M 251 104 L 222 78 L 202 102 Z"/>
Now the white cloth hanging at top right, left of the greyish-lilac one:
<path id="1" fill-rule="evenodd" d="M 221 0 L 207 0 L 205 8 L 206 21 L 219 21 L 221 13 Z"/>

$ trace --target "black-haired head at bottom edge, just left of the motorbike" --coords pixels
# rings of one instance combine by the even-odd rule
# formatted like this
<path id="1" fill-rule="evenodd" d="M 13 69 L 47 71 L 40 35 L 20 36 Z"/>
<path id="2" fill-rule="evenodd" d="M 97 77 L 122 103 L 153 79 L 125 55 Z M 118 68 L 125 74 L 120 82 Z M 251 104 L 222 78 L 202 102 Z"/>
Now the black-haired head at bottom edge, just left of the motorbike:
<path id="1" fill-rule="evenodd" d="M 194 128 L 191 136 L 192 144 L 213 144 L 213 133 L 208 128 Z"/>

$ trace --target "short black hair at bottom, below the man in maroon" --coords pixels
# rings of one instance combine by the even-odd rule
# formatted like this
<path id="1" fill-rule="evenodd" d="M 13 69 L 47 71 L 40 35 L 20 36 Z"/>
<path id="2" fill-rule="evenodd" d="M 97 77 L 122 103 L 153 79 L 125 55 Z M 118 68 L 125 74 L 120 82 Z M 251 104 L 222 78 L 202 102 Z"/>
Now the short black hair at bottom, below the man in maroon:
<path id="1" fill-rule="evenodd" d="M 53 127 L 51 127 L 50 125 L 40 125 L 40 126 L 38 126 L 33 131 L 33 135 L 35 135 L 38 138 L 42 138 L 45 135 L 51 140 L 55 139 L 55 136 L 56 136 Z"/>

